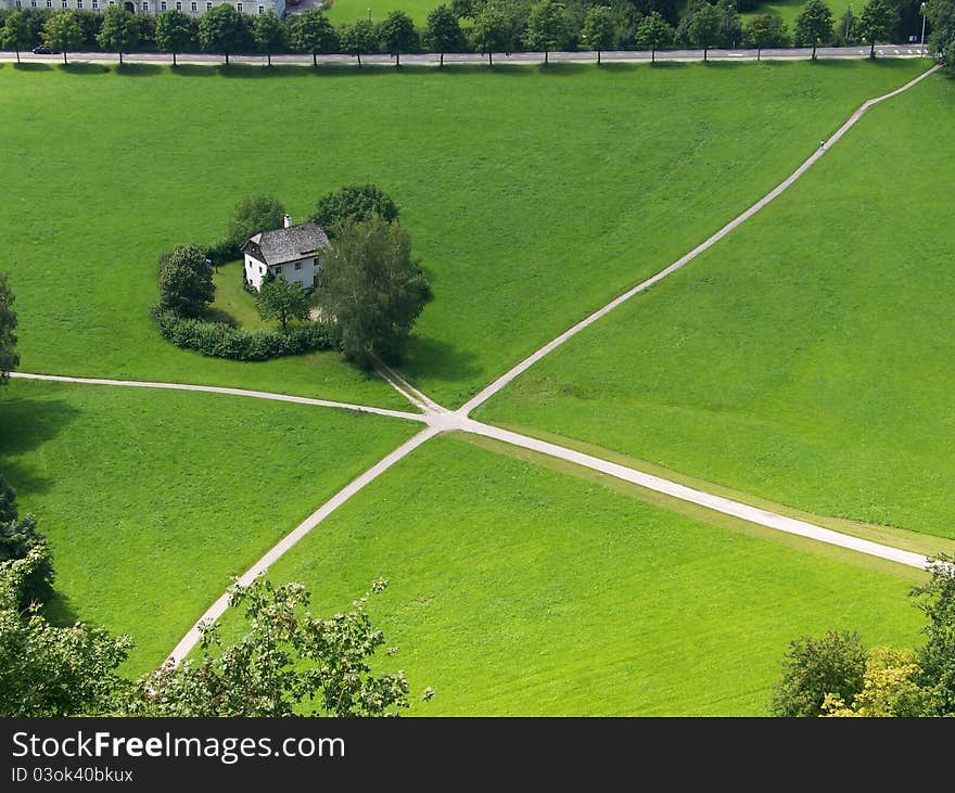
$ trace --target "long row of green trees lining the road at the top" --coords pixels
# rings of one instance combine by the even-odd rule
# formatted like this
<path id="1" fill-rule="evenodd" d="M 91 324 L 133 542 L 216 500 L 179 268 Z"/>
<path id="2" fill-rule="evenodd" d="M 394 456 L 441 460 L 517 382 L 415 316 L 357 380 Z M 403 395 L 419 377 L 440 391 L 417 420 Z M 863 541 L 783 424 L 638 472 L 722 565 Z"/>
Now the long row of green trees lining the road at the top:
<path id="1" fill-rule="evenodd" d="M 920 0 L 868 0 L 856 16 L 850 9 L 835 18 L 823 0 L 808 0 L 792 30 L 776 14 L 760 13 L 743 22 L 741 12 L 757 8 L 755 0 L 689 0 L 682 12 L 674 0 L 451 0 L 438 5 L 423 26 L 408 14 L 393 11 L 382 21 L 360 20 L 333 25 L 320 9 L 281 20 L 273 13 L 240 13 L 231 4 L 216 5 L 196 18 L 170 10 L 157 16 L 130 14 L 111 5 L 102 14 L 88 11 L 23 9 L 0 12 L 0 47 L 30 50 L 41 43 L 63 53 L 160 51 L 176 55 L 207 52 L 224 55 L 283 53 L 313 55 L 390 54 L 400 66 L 403 54 L 480 52 L 493 65 L 494 53 L 596 50 L 657 50 L 671 48 L 762 50 L 779 47 L 870 44 L 902 41 L 921 29 Z M 947 52 L 952 42 L 955 0 L 929 0 L 932 51 Z M 952 59 L 948 59 L 951 62 Z"/>

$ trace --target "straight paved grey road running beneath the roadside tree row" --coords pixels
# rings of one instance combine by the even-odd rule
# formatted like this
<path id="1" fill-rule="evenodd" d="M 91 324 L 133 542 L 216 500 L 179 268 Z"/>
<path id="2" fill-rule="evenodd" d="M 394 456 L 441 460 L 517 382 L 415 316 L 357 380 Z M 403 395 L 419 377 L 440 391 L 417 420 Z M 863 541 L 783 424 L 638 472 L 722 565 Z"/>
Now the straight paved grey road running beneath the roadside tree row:
<path id="1" fill-rule="evenodd" d="M 868 47 L 820 47 L 816 51 L 817 57 L 820 60 L 860 60 L 868 57 Z M 917 44 L 882 44 L 876 47 L 876 54 L 879 57 L 920 57 L 921 48 Z M 806 48 L 785 48 L 785 49 L 767 49 L 762 53 L 756 50 L 710 50 L 708 57 L 711 61 L 755 61 L 757 57 L 772 61 L 806 61 L 812 56 L 812 49 Z M 548 55 L 551 63 L 596 63 L 596 52 L 551 52 Z M 0 62 L 15 61 L 16 56 L 13 52 L 0 52 Z M 33 53 L 22 53 L 21 59 L 24 63 L 62 63 L 62 55 L 34 55 Z M 117 63 L 118 55 L 106 52 L 75 52 L 69 53 L 67 59 L 71 63 Z M 645 63 L 649 62 L 651 53 L 649 50 L 628 50 L 602 53 L 602 60 L 607 63 Z M 124 55 L 125 63 L 137 64 L 171 64 L 173 56 L 164 53 L 130 53 Z M 178 62 L 189 65 L 216 65 L 222 63 L 221 55 L 211 55 L 205 53 L 191 53 L 178 55 Z M 494 53 L 494 63 L 499 64 L 539 64 L 544 62 L 543 52 L 513 52 L 510 55 L 505 53 Z M 664 63 L 685 63 L 691 61 L 702 61 L 702 50 L 667 50 L 657 53 L 657 60 Z M 231 55 L 231 63 L 264 65 L 264 55 Z M 440 57 L 433 53 L 423 53 L 418 55 L 402 55 L 402 65 L 405 66 L 437 66 Z M 450 53 L 444 56 L 446 65 L 486 65 L 487 56 L 480 53 Z M 311 55 L 272 55 L 273 64 L 285 64 L 296 66 L 311 66 Z M 357 66 L 357 59 L 353 55 L 319 55 L 318 64 L 320 66 Z M 390 55 L 361 55 L 361 63 L 367 65 L 386 65 L 393 66 L 395 61 Z"/>

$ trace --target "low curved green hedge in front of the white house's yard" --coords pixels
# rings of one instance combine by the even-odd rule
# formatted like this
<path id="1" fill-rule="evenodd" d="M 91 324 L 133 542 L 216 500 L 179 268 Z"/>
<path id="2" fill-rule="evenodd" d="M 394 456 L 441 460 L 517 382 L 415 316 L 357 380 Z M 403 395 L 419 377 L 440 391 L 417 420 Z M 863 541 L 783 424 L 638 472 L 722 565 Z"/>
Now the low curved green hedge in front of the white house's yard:
<path id="1" fill-rule="evenodd" d="M 338 349 L 334 329 L 323 322 L 294 328 L 288 333 L 247 331 L 222 322 L 187 319 L 175 311 L 153 309 L 163 337 L 182 349 L 194 349 L 213 358 L 263 361 L 318 349 Z"/>

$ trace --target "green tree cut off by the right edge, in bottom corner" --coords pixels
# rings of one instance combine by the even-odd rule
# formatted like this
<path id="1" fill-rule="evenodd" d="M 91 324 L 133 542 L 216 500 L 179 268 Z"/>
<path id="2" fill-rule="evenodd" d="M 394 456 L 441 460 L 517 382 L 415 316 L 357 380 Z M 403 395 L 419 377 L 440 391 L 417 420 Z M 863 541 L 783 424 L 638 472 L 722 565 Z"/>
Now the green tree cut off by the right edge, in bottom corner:
<path id="1" fill-rule="evenodd" d="M 913 597 L 929 618 L 918 651 L 919 682 L 931 695 L 929 713 L 955 716 L 955 557 L 932 560 L 929 583 L 916 587 Z"/>

